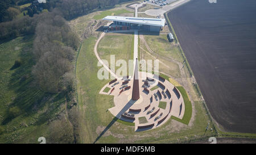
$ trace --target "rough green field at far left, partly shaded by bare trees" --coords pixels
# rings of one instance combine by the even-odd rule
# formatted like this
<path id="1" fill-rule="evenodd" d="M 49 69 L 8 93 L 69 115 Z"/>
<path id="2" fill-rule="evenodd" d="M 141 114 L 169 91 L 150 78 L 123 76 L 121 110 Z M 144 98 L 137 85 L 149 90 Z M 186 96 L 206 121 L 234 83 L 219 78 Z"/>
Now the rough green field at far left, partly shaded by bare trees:
<path id="1" fill-rule="evenodd" d="M 41 136 L 50 143 L 50 132 L 59 130 L 57 132 L 62 134 L 65 131 L 67 137 L 73 134 L 66 122 L 62 123 L 65 129 L 50 128 L 55 121 L 48 121 L 63 110 L 65 99 L 61 94 L 44 94 L 34 85 L 31 76 L 33 39 L 33 36 L 17 37 L 0 44 L 0 127 L 5 129 L 0 134 L 0 143 L 38 143 Z M 18 68 L 13 67 L 15 60 L 21 62 Z M 19 112 L 10 117 L 13 107 Z M 60 140 L 57 138 L 56 141 Z"/>

